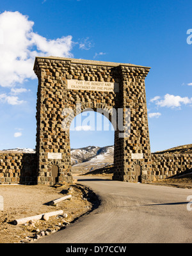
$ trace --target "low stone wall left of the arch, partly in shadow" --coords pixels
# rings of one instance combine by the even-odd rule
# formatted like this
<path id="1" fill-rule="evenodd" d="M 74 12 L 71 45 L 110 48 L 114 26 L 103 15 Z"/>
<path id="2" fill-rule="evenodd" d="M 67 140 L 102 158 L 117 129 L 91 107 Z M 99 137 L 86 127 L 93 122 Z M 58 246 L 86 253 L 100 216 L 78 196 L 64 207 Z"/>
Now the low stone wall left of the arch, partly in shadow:
<path id="1" fill-rule="evenodd" d="M 0 184 L 36 184 L 36 154 L 0 153 Z"/>

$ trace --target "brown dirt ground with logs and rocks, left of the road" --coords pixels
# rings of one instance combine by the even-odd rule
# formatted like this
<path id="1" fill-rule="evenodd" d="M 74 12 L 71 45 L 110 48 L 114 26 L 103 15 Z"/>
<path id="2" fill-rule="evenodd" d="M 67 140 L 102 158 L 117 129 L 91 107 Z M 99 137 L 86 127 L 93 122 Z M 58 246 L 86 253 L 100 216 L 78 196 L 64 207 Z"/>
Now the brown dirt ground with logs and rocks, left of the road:
<path id="1" fill-rule="evenodd" d="M 3 196 L 4 211 L 0 211 L 0 243 L 33 243 L 34 239 L 65 228 L 99 204 L 97 196 L 88 188 L 78 184 L 61 185 L 1 185 L 0 195 Z M 71 199 L 58 203 L 58 206 L 47 204 L 70 194 Z M 14 220 L 58 210 L 63 210 L 63 214 L 52 216 L 47 221 L 37 220 L 13 225 Z"/>

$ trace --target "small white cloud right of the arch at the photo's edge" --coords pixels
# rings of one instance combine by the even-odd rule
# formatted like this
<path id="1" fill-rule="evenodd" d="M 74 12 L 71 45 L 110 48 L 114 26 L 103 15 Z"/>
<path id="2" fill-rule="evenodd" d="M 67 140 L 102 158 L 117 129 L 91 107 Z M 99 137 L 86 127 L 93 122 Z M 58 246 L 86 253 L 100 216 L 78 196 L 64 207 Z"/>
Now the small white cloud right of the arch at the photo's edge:
<path id="1" fill-rule="evenodd" d="M 155 99 L 156 98 L 156 99 Z M 164 95 L 163 100 L 159 100 L 159 96 L 154 97 L 153 101 L 156 101 L 156 105 L 159 107 L 167 107 L 167 108 L 178 108 L 181 106 L 181 104 L 191 104 L 192 103 L 192 97 L 189 99 L 189 97 L 180 97 L 175 95 L 166 94 Z"/>

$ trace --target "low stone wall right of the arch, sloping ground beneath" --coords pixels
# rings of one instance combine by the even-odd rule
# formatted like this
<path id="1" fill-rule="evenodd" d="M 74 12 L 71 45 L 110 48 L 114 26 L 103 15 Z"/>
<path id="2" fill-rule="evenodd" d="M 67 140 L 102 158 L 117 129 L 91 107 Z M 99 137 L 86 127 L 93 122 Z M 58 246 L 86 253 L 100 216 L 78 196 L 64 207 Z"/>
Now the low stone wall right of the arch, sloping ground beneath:
<path id="1" fill-rule="evenodd" d="M 152 170 L 157 180 L 191 170 L 192 154 L 151 154 Z"/>

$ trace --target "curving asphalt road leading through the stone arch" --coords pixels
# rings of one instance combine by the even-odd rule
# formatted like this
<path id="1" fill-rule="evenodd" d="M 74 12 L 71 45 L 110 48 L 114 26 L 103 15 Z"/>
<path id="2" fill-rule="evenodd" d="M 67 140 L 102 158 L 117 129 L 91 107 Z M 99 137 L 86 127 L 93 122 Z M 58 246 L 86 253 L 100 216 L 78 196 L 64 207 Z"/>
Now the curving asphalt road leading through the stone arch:
<path id="1" fill-rule="evenodd" d="M 191 189 L 76 178 L 99 208 L 36 243 L 192 243 Z"/>

